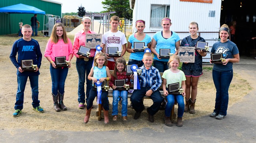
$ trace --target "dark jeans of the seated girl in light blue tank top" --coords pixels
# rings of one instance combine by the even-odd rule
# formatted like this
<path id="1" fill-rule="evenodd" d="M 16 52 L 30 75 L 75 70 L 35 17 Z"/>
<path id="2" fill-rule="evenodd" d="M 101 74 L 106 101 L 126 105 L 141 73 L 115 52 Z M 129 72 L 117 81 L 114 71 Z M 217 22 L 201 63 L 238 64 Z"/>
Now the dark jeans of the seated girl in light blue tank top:
<path id="1" fill-rule="evenodd" d="M 102 107 L 107 111 L 109 110 L 109 100 L 108 100 L 108 91 L 102 91 L 101 93 L 101 104 Z M 90 96 L 88 98 L 88 100 L 86 101 L 87 109 L 90 109 L 93 106 L 93 101 L 95 99 L 95 97 L 97 96 L 97 90 L 90 90 Z"/>

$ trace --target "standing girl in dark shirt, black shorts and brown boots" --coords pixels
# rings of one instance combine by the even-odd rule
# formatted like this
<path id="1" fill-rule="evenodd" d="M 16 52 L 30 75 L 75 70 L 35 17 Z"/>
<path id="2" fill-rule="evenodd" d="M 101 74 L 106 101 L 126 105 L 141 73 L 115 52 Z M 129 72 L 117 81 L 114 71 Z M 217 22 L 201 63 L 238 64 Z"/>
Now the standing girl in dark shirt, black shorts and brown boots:
<path id="1" fill-rule="evenodd" d="M 191 35 L 185 37 L 181 41 L 182 47 L 195 47 L 197 42 L 205 42 L 204 38 L 197 35 L 198 24 L 196 22 L 191 22 L 189 24 L 189 33 Z M 184 112 L 196 113 L 195 112 L 195 103 L 197 95 L 197 84 L 199 77 L 203 75 L 203 62 L 202 57 L 206 56 L 206 52 L 202 50 L 196 50 L 195 53 L 195 62 L 194 63 L 182 63 L 182 71 L 186 76 L 186 104 Z"/>

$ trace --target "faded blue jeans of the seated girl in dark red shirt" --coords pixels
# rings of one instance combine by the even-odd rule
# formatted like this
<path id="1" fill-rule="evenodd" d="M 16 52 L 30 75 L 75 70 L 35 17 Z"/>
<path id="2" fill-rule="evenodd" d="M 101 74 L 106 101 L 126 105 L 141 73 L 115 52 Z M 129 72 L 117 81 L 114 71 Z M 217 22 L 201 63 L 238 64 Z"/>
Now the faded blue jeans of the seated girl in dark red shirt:
<path id="1" fill-rule="evenodd" d="M 113 109 L 112 109 L 112 116 L 118 114 L 118 98 L 119 96 L 122 98 L 122 116 L 127 116 L 127 95 L 128 91 L 126 90 L 113 90 Z"/>

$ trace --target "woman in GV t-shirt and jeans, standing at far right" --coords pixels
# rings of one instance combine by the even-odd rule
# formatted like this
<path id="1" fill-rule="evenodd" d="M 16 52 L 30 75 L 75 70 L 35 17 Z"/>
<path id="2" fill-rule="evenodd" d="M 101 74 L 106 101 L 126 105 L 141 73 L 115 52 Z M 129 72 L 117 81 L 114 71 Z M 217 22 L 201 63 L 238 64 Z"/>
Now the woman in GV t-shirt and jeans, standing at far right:
<path id="1" fill-rule="evenodd" d="M 235 43 L 227 40 L 229 27 L 223 24 L 219 30 L 220 41 L 212 45 L 211 53 L 222 53 L 226 59 L 222 63 L 214 63 L 212 79 L 216 88 L 215 109 L 210 114 L 216 119 L 224 119 L 229 103 L 229 85 L 233 78 L 233 63 L 239 62 L 239 51 Z M 210 60 L 211 63 L 211 60 Z"/>

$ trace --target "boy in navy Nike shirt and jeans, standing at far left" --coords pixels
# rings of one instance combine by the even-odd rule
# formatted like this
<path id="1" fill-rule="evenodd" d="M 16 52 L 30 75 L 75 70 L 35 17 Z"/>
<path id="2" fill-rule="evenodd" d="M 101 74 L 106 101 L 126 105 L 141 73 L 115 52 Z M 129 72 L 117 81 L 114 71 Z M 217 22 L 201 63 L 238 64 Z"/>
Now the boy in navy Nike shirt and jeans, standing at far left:
<path id="1" fill-rule="evenodd" d="M 16 93 L 15 112 L 12 114 L 13 117 L 18 117 L 21 110 L 23 109 L 24 90 L 29 77 L 31 91 L 32 91 L 32 105 L 33 109 L 39 113 L 44 112 L 44 109 L 39 106 L 40 101 L 38 100 L 38 75 L 39 68 L 42 61 L 42 53 L 40 50 L 39 43 L 37 40 L 31 38 L 32 28 L 30 25 L 25 24 L 22 26 L 23 38 L 16 40 L 12 46 L 10 59 L 17 70 L 17 82 L 18 90 Z M 16 55 L 18 53 L 18 61 Z M 21 68 L 21 60 L 33 60 L 33 65 L 37 65 L 35 71 L 24 71 Z"/>

